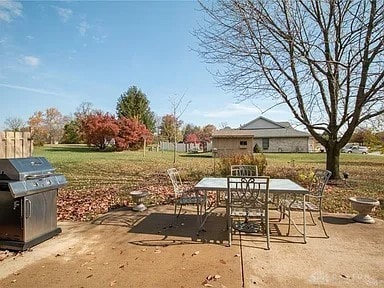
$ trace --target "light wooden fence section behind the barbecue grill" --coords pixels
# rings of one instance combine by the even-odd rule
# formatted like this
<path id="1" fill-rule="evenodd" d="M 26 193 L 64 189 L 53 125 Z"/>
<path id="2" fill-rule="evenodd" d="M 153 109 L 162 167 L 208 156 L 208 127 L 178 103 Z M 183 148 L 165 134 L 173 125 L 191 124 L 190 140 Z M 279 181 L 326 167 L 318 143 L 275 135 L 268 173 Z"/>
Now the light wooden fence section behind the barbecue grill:
<path id="1" fill-rule="evenodd" d="M 0 158 L 30 157 L 33 152 L 33 140 L 30 132 L 1 132 Z"/>

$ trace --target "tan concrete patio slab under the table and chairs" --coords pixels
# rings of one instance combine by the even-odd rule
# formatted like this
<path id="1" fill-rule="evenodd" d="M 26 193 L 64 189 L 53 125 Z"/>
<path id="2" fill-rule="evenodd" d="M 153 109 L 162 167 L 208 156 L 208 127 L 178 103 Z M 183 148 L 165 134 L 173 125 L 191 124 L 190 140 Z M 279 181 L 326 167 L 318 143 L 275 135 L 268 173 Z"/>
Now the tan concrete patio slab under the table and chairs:
<path id="1" fill-rule="evenodd" d="M 58 236 L 0 261 L 0 287 L 384 287 L 384 221 L 326 214 L 330 238 L 308 225 L 307 244 L 276 221 L 267 251 L 254 235 L 235 234 L 227 247 L 223 210 L 199 235 L 193 210 L 172 213 L 125 208 L 92 223 L 60 222 Z"/>

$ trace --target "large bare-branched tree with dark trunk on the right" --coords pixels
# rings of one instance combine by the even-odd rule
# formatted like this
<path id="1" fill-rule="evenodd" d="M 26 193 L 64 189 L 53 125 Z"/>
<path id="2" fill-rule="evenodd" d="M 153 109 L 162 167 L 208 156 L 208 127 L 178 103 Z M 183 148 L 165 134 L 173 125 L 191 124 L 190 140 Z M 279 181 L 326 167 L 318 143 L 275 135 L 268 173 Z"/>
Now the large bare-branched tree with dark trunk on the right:
<path id="1" fill-rule="evenodd" d="M 208 6 L 209 5 L 209 6 Z M 376 0 L 218 0 L 201 3 L 199 53 L 240 100 L 274 99 L 327 151 L 384 112 L 384 3 Z M 282 100 L 282 101 L 281 101 Z"/>

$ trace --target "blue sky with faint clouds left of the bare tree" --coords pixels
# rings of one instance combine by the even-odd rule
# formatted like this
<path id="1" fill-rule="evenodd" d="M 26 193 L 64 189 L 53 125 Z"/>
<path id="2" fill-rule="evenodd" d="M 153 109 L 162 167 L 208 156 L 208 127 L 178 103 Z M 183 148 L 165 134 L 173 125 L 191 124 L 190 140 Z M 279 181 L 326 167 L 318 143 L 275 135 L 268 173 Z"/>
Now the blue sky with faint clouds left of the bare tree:
<path id="1" fill-rule="evenodd" d="M 115 114 L 133 85 L 160 117 L 184 95 L 185 124 L 235 128 L 261 116 L 219 88 L 214 67 L 193 51 L 198 9 L 195 1 L 0 0 L 0 130 L 8 117 L 27 121 L 50 107 L 70 115 L 82 102 Z M 283 106 L 263 116 L 293 119 Z"/>

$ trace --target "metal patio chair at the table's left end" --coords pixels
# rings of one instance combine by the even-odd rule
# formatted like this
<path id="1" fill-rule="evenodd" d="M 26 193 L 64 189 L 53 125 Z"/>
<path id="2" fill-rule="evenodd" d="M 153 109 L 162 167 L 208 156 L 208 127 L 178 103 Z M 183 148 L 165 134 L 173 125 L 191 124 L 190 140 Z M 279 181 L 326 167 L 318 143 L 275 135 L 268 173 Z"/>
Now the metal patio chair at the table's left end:
<path id="1" fill-rule="evenodd" d="M 180 173 L 176 168 L 170 168 L 167 170 L 167 173 L 171 179 L 173 191 L 175 193 L 175 210 L 174 214 L 176 214 L 177 206 L 179 206 L 179 212 L 176 217 L 180 216 L 181 209 L 184 205 L 196 205 L 197 212 L 197 221 L 198 225 L 201 223 L 202 219 L 202 210 L 203 205 L 205 204 L 205 197 L 198 194 L 198 191 L 195 189 L 186 189 L 183 184 Z"/>

